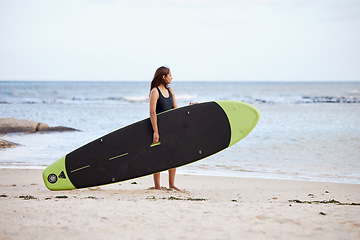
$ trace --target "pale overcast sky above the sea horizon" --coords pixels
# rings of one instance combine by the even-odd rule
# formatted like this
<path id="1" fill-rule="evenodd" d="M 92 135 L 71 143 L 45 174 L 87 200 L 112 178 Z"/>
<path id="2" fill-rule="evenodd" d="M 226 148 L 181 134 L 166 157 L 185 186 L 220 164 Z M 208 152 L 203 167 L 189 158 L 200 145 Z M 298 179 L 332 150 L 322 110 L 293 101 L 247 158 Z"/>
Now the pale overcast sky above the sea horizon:
<path id="1" fill-rule="evenodd" d="M 0 80 L 359 81 L 359 0 L 0 0 Z"/>

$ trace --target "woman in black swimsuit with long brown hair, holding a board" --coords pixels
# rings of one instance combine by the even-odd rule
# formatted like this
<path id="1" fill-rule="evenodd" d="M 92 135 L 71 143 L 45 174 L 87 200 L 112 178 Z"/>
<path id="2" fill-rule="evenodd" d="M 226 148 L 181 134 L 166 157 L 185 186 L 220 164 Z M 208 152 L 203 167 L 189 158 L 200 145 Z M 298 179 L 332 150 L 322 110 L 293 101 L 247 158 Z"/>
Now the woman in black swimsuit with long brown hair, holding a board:
<path id="1" fill-rule="evenodd" d="M 158 113 L 177 108 L 174 91 L 169 87 L 172 81 L 171 72 L 168 67 L 159 67 L 151 82 L 150 88 L 150 120 L 154 131 L 153 143 L 159 142 L 159 129 L 157 125 Z M 169 187 L 180 191 L 175 187 L 176 168 L 169 170 Z M 154 174 L 155 189 L 161 190 L 160 173 Z"/>

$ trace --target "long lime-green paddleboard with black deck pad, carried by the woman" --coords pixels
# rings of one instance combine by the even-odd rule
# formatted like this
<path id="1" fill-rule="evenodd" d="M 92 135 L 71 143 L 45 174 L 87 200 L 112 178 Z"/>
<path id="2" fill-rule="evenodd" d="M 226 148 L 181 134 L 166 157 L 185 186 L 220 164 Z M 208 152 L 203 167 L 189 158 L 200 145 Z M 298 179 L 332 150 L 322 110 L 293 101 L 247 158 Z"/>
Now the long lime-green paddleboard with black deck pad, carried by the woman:
<path id="1" fill-rule="evenodd" d="M 184 166 L 224 150 L 247 136 L 259 111 L 243 102 L 213 101 L 157 115 L 159 143 L 150 118 L 100 137 L 43 171 L 50 190 L 100 186 Z"/>

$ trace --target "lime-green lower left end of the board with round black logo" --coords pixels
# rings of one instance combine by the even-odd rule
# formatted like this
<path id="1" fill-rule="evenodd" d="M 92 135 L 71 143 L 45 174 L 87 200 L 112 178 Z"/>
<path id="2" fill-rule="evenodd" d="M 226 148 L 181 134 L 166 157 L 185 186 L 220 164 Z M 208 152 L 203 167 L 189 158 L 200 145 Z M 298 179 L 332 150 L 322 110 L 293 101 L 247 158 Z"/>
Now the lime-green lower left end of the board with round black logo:
<path id="1" fill-rule="evenodd" d="M 66 156 L 60 158 L 43 171 L 45 186 L 50 190 L 74 189 L 65 168 Z"/>

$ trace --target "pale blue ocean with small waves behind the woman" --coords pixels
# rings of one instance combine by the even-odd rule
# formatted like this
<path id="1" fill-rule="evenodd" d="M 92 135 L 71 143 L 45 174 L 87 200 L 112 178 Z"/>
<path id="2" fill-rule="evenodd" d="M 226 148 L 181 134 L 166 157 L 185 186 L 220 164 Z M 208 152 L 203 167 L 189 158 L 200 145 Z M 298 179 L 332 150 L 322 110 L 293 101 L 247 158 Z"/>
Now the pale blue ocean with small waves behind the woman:
<path id="1" fill-rule="evenodd" d="M 78 132 L 16 133 L 0 168 L 45 168 L 72 150 L 149 117 L 149 82 L 0 81 L 0 117 Z M 176 82 L 178 106 L 237 100 L 260 111 L 234 146 L 178 173 L 360 184 L 360 82 Z M 151 140 L 150 140 L 151 141 Z"/>

